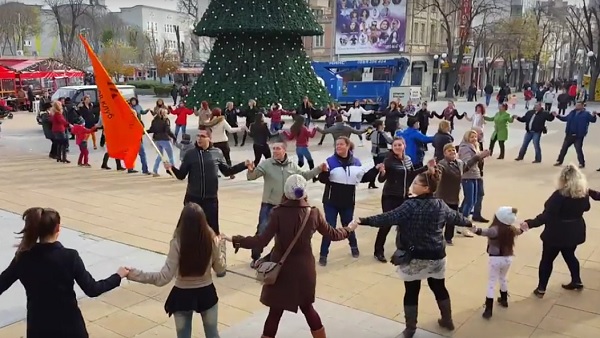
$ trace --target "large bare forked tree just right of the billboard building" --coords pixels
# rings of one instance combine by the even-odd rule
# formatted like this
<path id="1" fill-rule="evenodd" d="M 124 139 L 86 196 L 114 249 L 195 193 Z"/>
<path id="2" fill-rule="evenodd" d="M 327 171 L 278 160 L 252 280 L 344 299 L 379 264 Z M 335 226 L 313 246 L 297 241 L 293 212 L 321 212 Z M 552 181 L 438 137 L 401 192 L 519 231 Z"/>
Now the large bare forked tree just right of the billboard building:
<path id="1" fill-rule="evenodd" d="M 472 28 L 476 19 L 483 15 L 492 16 L 504 4 L 504 0 L 430 0 L 419 10 L 435 10 L 441 21 L 446 35 L 448 57 L 445 62 L 449 65 L 446 98 L 453 98 L 452 88 L 458 81 L 460 67 L 465 58 L 467 47 L 472 44 Z M 470 6 L 465 7 L 467 3 Z M 456 28 L 459 28 L 458 30 Z"/>

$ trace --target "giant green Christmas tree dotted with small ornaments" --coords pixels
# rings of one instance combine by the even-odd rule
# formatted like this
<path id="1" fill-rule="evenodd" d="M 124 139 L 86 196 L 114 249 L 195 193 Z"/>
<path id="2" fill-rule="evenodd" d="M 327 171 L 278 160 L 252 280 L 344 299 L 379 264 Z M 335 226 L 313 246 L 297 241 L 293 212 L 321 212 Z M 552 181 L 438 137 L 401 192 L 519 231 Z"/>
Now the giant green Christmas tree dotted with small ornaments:
<path id="1" fill-rule="evenodd" d="M 330 102 L 306 55 L 303 36 L 323 35 L 306 0 L 212 0 L 194 34 L 215 43 L 187 103 L 199 107 L 232 101 L 297 107 L 308 96 L 316 107 Z"/>

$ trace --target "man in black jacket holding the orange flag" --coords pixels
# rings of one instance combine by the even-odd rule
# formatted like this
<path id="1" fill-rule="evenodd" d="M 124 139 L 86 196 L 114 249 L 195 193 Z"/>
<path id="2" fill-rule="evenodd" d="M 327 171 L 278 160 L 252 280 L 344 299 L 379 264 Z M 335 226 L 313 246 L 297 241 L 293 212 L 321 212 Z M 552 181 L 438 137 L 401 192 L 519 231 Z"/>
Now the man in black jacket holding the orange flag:
<path id="1" fill-rule="evenodd" d="M 216 162 L 216 163 L 215 163 Z M 200 127 L 196 138 L 196 147 L 190 149 L 178 168 L 165 163 L 179 180 L 188 179 L 183 204 L 196 203 L 202 207 L 208 225 L 219 234 L 219 178 L 217 166 L 224 176 L 229 177 L 244 171 L 252 161 L 240 162 L 232 167 L 227 165 L 220 149 L 210 142 L 210 129 Z"/>

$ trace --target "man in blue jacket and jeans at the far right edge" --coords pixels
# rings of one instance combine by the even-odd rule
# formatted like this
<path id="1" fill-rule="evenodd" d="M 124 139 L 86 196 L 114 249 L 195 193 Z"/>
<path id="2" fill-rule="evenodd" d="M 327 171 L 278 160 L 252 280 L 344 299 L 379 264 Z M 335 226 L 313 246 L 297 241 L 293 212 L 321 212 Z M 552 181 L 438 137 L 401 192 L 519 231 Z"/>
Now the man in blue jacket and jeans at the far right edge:
<path id="1" fill-rule="evenodd" d="M 597 112 L 590 113 L 585 109 L 583 103 L 578 102 L 575 105 L 575 109 L 566 116 L 558 115 L 556 112 L 552 113 L 554 117 L 560 121 L 566 122 L 565 127 L 565 140 L 563 141 L 562 148 L 558 154 L 558 159 L 554 166 L 558 167 L 563 164 L 565 155 L 569 148 L 574 145 L 575 151 L 577 152 L 577 161 L 579 162 L 579 168 L 585 168 L 585 156 L 583 155 L 583 139 L 587 135 L 590 123 L 596 123 Z"/>

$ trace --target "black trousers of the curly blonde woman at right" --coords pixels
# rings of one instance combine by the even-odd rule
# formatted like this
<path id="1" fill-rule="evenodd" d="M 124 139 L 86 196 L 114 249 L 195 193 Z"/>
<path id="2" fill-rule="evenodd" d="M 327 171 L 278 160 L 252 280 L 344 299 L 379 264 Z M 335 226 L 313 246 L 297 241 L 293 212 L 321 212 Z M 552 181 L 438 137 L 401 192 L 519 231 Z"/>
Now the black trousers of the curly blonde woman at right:
<path id="1" fill-rule="evenodd" d="M 567 263 L 569 272 L 571 273 L 571 282 L 581 283 L 581 275 L 579 268 L 579 260 L 575 257 L 576 246 L 561 248 L 544 244 L 542 248 L 542 259 L 540 260 L 540 268 L 538 271 L 539 282 L 538 290 L 546 291 L 550 275 L 552 275 L 552 268 L 554 267 L 554 260 L 560 253 Z"/>

